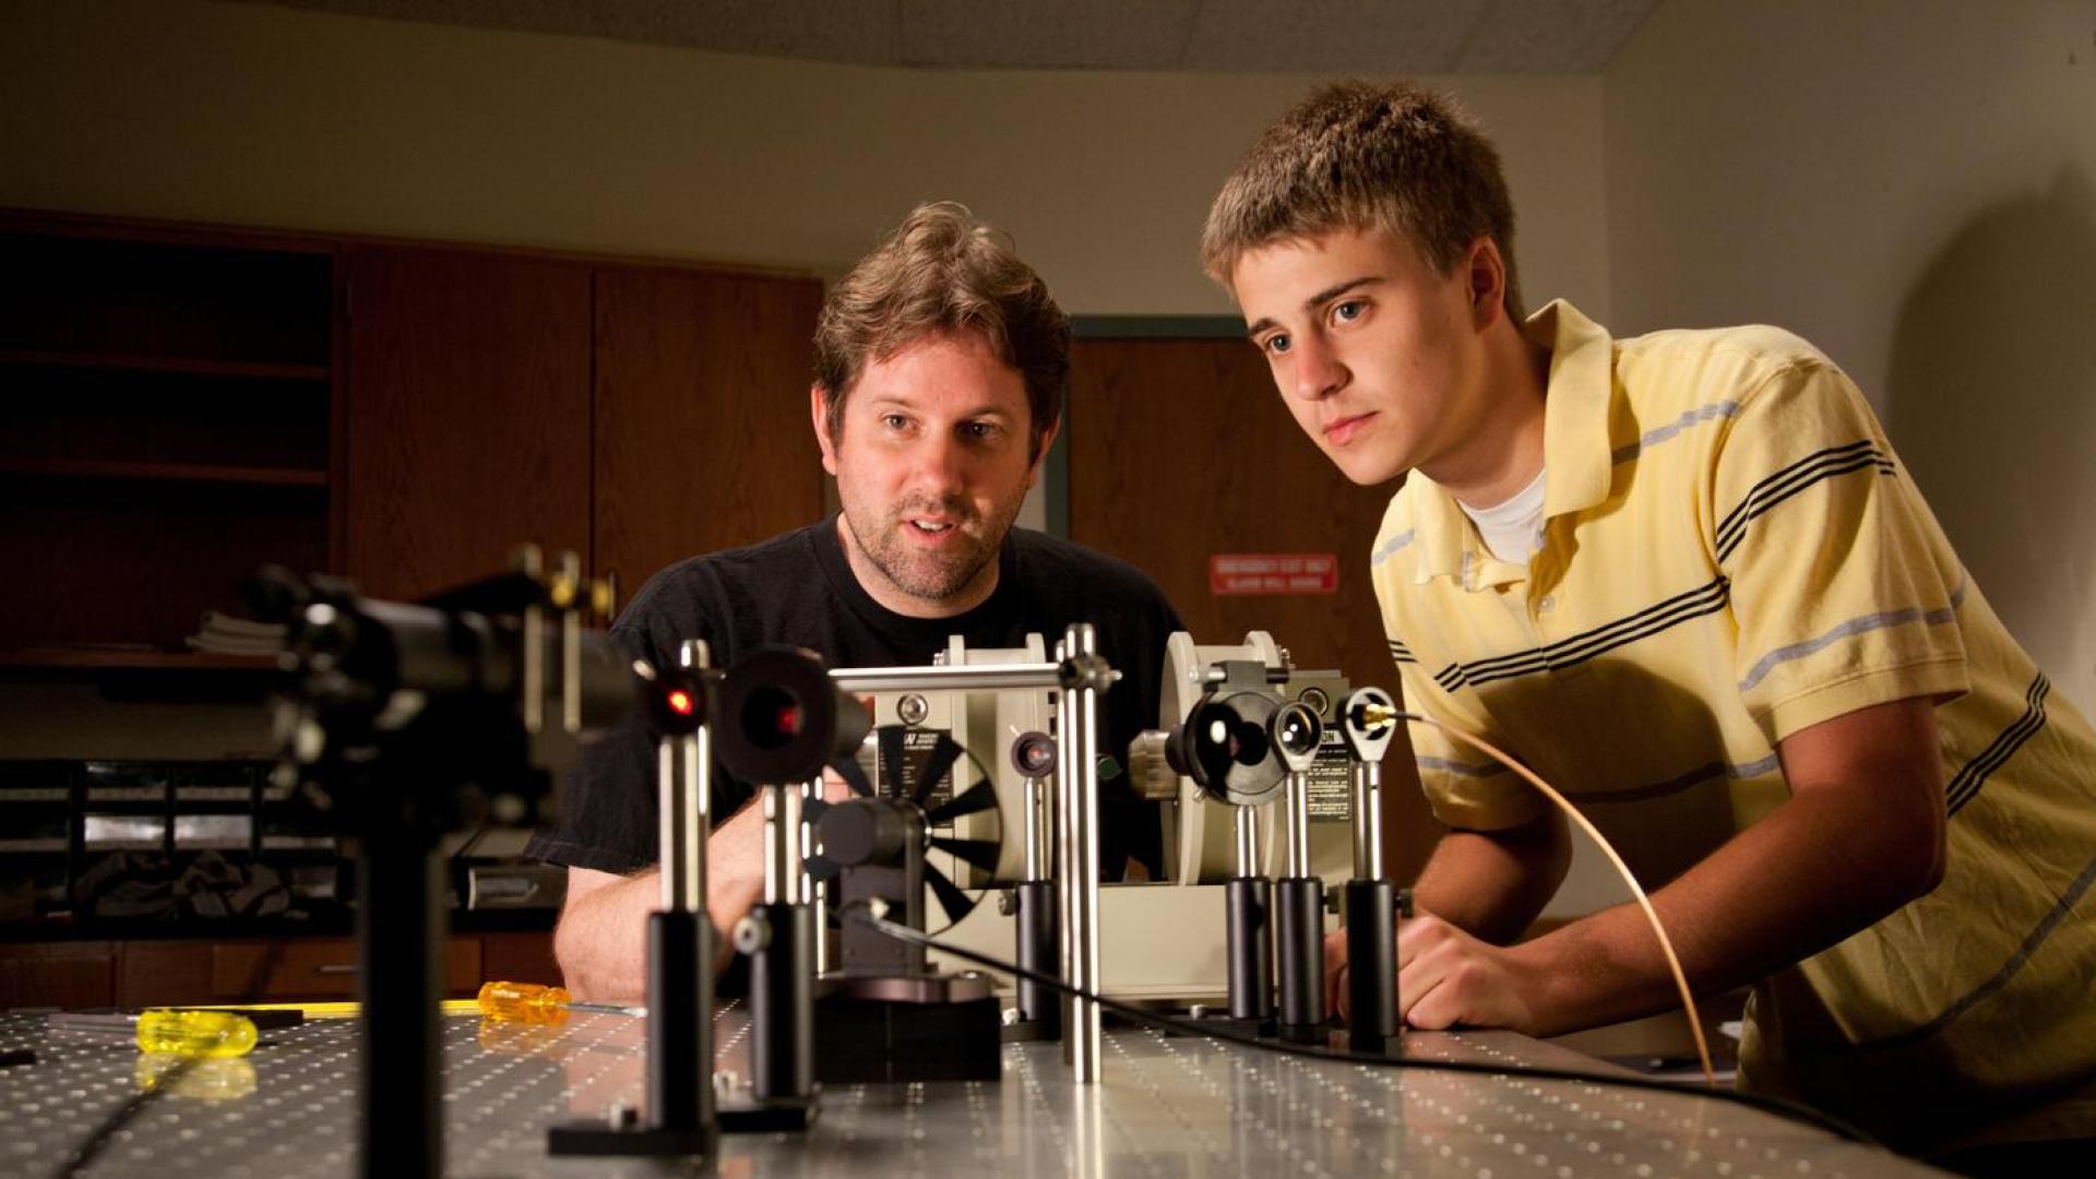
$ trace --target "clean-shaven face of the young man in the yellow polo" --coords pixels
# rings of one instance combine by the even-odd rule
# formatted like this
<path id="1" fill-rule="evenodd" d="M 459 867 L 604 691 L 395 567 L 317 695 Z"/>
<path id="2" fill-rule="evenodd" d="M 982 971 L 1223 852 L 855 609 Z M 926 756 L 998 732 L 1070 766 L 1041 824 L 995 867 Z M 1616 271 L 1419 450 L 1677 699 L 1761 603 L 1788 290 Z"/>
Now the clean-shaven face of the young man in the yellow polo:
<path id="1" fill-rule="evenodd" d="M 1446 468 L 1486 424 L 1469 264 L 1450 271 L 1394 233 L 1350 229 L 1262 245 L 1230 273 L 1295 422 L 1362 487 L 1461 476 Z"/>

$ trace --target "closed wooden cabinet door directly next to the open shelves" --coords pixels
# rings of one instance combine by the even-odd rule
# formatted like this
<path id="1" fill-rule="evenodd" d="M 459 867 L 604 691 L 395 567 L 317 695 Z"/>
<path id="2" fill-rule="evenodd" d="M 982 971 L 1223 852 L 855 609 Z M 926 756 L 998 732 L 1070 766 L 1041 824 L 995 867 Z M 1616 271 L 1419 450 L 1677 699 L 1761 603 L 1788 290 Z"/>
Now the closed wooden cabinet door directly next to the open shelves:
<path id="1" fill-rule="evenodd" d="M 344 571 L 419 598 L 516 543 L 589 552 L 589 266 L 465 250 L 348 260 Z"/>

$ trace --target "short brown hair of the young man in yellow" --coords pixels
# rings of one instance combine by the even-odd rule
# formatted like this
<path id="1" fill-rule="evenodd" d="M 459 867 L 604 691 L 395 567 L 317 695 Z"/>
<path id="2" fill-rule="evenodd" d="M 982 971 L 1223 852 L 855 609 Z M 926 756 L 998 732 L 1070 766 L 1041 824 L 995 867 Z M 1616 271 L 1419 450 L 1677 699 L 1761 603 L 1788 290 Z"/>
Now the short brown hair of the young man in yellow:
<path id="1" fill-rule="evenodd" d="M 1522 319 L 1499 151 L 1448 99 L 1404 82 L 1339 82 L 1297 103 L 1216 195 L 1201 269 L 1230 287 L 1247 252 L 1346 229 L 1402 235 L 1442 277 L 1490 237 L 1507 266 L 1507 315 Z"/>

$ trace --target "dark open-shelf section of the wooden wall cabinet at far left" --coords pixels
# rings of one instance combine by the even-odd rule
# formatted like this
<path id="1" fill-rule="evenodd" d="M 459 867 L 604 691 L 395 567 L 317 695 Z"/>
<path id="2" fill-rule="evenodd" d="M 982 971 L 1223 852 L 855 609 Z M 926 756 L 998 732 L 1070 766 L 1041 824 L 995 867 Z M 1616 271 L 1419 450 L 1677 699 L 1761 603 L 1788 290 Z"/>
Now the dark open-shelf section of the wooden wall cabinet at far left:
<path id="1" fill-rule="evenodd" d="M 182 650 L 325 569 L 333 248 L 0 216 L 0 650 Z"/>

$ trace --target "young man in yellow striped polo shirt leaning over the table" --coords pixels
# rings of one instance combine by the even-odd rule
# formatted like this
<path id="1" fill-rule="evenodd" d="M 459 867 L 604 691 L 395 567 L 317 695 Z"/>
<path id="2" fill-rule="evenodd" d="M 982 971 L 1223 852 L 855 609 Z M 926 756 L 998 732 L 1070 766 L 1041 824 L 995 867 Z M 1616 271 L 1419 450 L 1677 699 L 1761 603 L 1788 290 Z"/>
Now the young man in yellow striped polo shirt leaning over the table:
<path id="1" fill-rule="evenodd" d="M 1283 115 L 1203 237 L 1310 438 L 1364 487 L 1406 476 L 1369 560 L 1409 705 L 1570 795 L 1696 990 L 1754 982 L 1742 1082 L 1901 1150 L 2077 1150 L 2096 734 L 1824 355 L 1773 327 L 1612 340 L 1564 302 L 1524 321 L 1511 237 L 1492 145 L 1367 84 Z M 1413 741 L 1453 831 L 1398 936 L 1406 1022 L 1671 1007 L 1635 906 L 1513 944 L 1566 824 Z"/>

